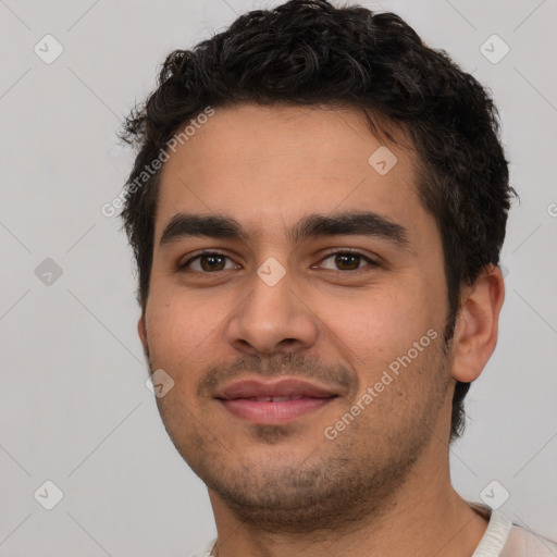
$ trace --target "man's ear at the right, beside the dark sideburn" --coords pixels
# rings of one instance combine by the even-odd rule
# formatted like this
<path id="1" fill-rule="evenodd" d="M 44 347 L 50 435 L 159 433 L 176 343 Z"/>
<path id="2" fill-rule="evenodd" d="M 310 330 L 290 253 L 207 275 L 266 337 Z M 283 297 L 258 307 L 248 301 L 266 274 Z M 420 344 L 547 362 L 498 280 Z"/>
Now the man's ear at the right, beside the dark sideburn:
<path id="1" fill-rule="evenodd" d="M 480 376 L 497 344 L 499 312 L 505 299 L 499 268 L 490 263 L 463 295 L 453 342 L 453 377 L 470 383 Z"/>

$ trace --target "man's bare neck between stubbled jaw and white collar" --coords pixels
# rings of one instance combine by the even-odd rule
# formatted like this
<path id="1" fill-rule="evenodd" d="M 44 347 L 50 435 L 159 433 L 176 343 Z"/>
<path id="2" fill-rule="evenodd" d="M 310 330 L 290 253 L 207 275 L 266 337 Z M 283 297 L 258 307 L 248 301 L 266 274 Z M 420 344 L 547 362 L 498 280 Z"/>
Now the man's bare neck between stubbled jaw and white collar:
<path id="1" fill-rule="evenodd" d="M 487 525 L 450 485 L 448 451 L 438 437 L 388 502 L 377 507 L 369 500 L 362 509 L 372 511 L 362 511 L 358 520 L 334 530 L 270 532 L 243 522 L 213 491 L 209 496 L 218 531 L 216 557 L 317 557 L 344 555 L 347 548 L 360 555 L 470 557 Z"/>

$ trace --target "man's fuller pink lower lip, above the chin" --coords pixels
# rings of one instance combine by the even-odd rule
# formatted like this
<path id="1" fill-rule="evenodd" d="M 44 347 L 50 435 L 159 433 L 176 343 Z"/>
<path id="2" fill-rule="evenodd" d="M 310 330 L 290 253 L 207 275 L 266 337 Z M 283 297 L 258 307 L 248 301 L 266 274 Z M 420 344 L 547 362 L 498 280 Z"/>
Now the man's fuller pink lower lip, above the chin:
<path id="1" fill-rule="evenodd" d="M 256 423 L 283 423 L 323 408 L 333 398 L 300 398 L 282 403 L 258 403 L 248 398 L 235 398 L 221 403 L 226 410 L 244 420 Z"/>

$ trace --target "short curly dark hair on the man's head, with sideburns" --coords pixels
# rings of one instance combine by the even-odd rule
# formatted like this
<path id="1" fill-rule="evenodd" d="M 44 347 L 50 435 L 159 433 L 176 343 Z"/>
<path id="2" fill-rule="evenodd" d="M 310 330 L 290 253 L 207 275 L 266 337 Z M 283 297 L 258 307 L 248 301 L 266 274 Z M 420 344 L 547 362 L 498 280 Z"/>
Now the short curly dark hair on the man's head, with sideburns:
<path id="1" fill-rule="evenodd" d="M 498 264 L 516 195 L 497 110 L 472 75 L 446 52 L 424 45 L 396 14 L 335 8 L 326 0 L 251 11 L 191 50 L 175 50 L 157 89 L 126 119 L 120 135 L 138 154 L 121 216 L 137 262 L 141 310 L 149 295 L 160 170 L 141 187 L 131 185 L 208 106 L 247 102 L 350 107 L 372 129 L 370 114 L 375 123 L 388 121 L 408 132 L 421 165 L 418 191 L 443 242 L 448 343 L 461 286 L 472 285 L 490 263 Z M 456 384 L 450 441 L 463 432 L 469 387 Z"/>

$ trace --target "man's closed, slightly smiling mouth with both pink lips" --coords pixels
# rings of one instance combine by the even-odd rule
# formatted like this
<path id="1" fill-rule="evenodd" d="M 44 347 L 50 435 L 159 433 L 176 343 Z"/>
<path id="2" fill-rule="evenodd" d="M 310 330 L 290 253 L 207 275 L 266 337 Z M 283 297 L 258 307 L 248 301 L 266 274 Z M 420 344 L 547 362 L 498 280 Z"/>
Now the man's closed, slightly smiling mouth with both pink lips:
<path id="1" fill-rule="evenodd" d="M 338 396 L 334 389 L 299 380 L 274 383 L 244 380 L 225 386 L 215 399 L 237 418 L 278 424 L 317 411 Z"/>

